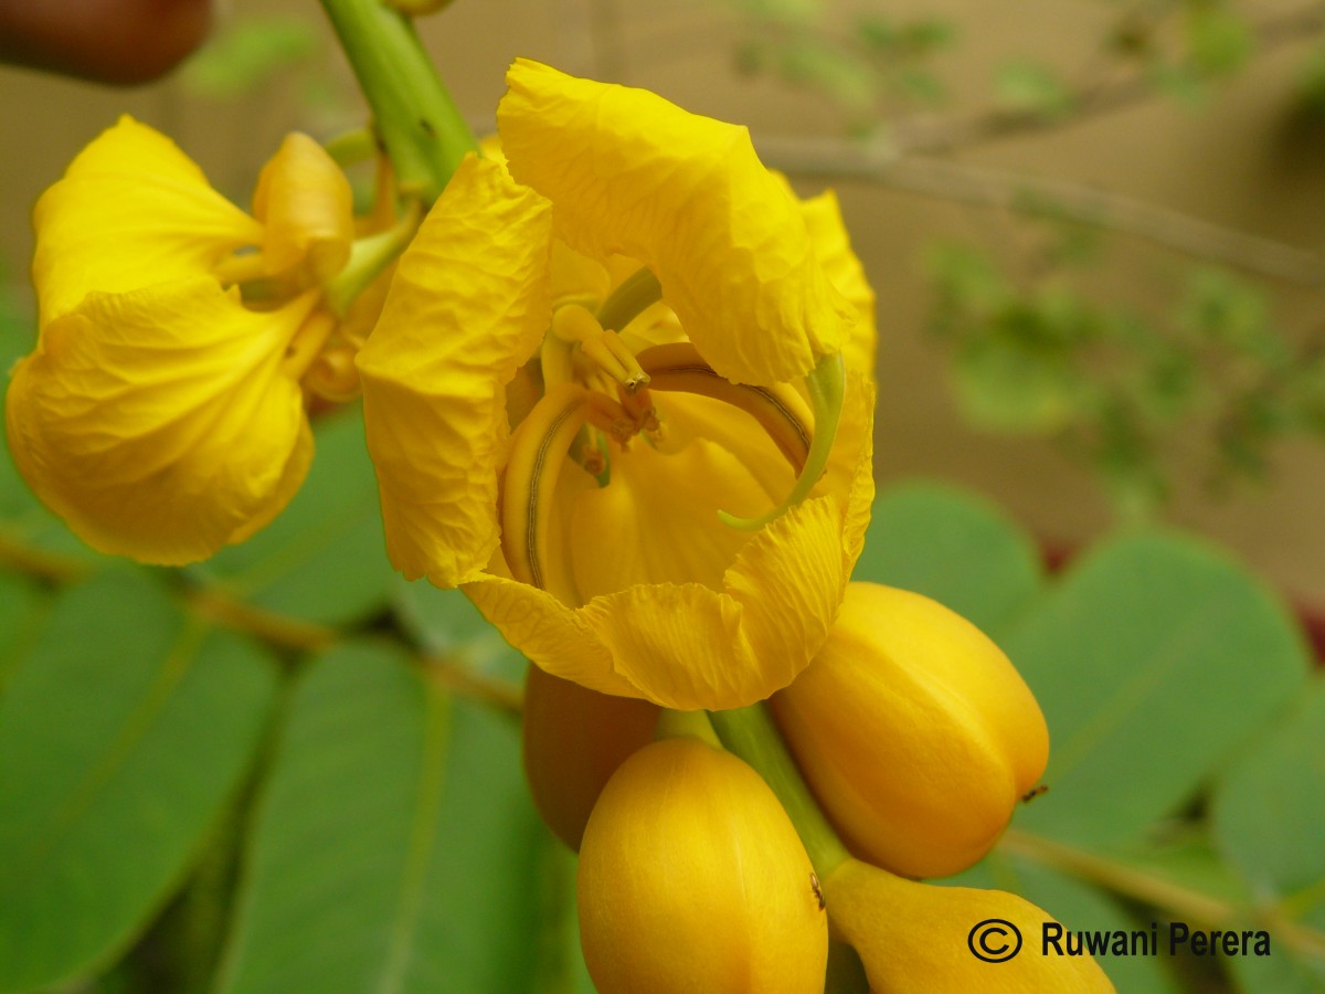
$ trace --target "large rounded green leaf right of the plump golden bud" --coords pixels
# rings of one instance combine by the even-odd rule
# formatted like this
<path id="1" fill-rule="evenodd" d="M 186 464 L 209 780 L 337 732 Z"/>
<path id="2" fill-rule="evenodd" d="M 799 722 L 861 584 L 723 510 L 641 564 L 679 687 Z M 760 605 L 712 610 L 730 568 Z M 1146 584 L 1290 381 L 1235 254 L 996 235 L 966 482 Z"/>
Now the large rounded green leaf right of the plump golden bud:
<path id="1" fill-rule="evenodd" d="M 1049 725 L 1027 831 L 1097 847 L 1175 814 L 1301 685 L 1300 632 L 1216 549 L 1171 534 L 1097 546 L 1003 639 Z"/>

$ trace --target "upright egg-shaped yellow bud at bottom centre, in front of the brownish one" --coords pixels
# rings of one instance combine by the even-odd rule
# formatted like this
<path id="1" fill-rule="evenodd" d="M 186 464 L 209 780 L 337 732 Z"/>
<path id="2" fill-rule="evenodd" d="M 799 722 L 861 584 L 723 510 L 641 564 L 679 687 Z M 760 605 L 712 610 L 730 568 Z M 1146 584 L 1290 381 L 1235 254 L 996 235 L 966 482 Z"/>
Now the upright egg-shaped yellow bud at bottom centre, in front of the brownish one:
<path id="1" fill-rule="evenodd" d="M 772 791 L 697 738 L 645 746 L 584 831 L 580 941 L 602 994 L 819 994 L 828 922 Z"/>

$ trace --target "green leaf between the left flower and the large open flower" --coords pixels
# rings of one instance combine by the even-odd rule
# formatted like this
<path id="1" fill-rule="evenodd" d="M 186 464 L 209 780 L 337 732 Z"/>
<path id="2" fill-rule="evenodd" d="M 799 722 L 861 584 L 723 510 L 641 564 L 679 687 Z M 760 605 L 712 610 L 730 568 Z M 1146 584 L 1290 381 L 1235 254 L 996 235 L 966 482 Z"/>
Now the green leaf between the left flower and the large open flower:
<path id="1" fill-rule="evenodd" d="M 191 574 L 225 596 L 314 624 L 350 626 L 380 611 L 395 573 L 359 414 L 321 420 L 313 468 L 290 505 Z"/>

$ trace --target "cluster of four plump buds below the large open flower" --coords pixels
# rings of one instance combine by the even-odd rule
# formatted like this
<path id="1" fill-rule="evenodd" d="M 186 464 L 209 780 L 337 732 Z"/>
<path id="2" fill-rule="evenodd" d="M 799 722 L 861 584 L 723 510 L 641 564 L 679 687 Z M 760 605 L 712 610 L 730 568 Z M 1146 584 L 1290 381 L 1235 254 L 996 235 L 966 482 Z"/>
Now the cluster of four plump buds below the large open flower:
<path id="1" fill-rule="evenodd" d="M 853 583 L 823 649 L 767 708 L 845 848 L 819 839 L 812 860 L 804 822 L 716 738 L 685 734 L 693 722 L 669 737 L 674 713 L 531 671 L 526 773 L 580 854 L 600 991 L 820 991 L 829 937 L 876 991 L 918 978 L 934 991 L 1113 990 L 1089 957 L 1028 946 L 988 962 L 998 950 L 973 952 L 974 926 L 1011 924 L 1034 942 L 1052 918 L 1011 893 L 917 880 L 977 863 L 1048 758 L 1034 696 L 978 628 L 918 594 Z"/>

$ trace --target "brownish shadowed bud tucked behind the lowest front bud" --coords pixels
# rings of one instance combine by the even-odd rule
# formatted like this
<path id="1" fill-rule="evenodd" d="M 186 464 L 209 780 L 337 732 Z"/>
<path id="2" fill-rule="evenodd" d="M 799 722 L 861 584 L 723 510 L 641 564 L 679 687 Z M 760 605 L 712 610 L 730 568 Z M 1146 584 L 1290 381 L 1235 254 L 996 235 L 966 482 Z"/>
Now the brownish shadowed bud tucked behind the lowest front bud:
<path id="1" fill-rule="evenodd" d="M 572 850 L 579 850 L 594 803 L 616 767 L 653 741 L 660 710 L 529 668 L 525 775 L 547 827 Z"/>

